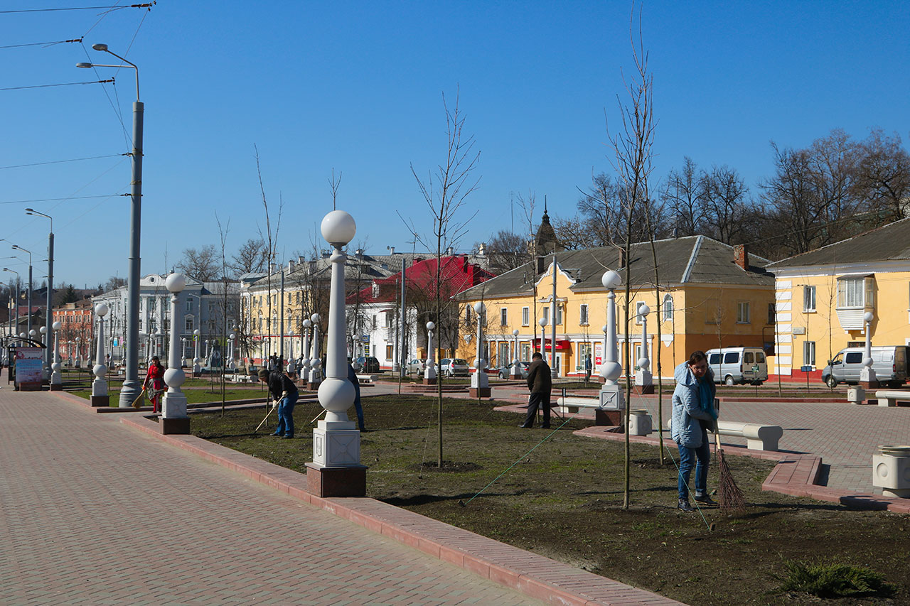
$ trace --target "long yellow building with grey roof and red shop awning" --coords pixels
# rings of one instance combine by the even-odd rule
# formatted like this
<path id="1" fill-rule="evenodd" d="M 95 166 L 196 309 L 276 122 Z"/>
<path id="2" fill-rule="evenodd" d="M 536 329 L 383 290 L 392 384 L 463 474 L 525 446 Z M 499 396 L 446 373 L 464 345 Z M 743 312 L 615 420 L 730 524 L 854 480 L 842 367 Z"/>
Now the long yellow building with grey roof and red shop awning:
<path id="1" fill-rule="evenodd" d="M 655 352 L 660 355 L 662 377 L 672 378 L 674 367 L 696 349 L 753 345 L 770 350 L 774 295 L 773 277 L 763 269 L 766 259 L 750 257 L 744 247 L 703 236 L 659 240 L 654 246 L 659 268 L 656 278 L 651 244 L 632 245 L 629 314 L 634 316 L 645 304 L 651 308 L 647 334 L 655 378 L 659 368 Z M 556 366 L 560 376 L 581 375 L 590 354 L 596 374 L 603 357 L 607 305 L 601 278 L 604 271 L 614 269 L 625 280 L 622 252 L 602 247 L 565 250 L 555 257 Z M 480 300 L 487 308 L 484 358 L 490 360 L 490 367 L 511 361 L 516 340 L 518 358 L 530 360 L 540 348 L 541 318 L 548 320 L 545 344 L 550 359 L 553 276 L 553 255 L 549 255 L 460 293 L 465 337 L 476 327 L 476 315 L 470 308 Z M 641 356 L 643 327 L 639 318 L 630 320 L 629 330 L 624 328 L 624 286 L 616 290 L 616 303 L 623 363 L 629 345 L 632 360 Z M 514 330 L 519 331 L 517 339 Z M 476 341 L 462 339 L 458 355 L 474 359 Z"/>

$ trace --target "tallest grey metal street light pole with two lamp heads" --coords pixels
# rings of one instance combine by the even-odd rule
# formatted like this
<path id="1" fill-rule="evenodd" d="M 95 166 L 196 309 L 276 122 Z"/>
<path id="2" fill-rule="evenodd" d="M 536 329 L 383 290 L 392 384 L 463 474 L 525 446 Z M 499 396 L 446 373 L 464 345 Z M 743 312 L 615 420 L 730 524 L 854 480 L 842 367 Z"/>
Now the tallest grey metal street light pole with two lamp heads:
<path id="1" fill-rule="evenodd" d="M 96 51 L 116 56 L 127 65 L 110 66 L 77 63 L 76 67 L 132 67 L 136 70 L 136 101 L 133 103 L 133 177 L 129 213 L 129 271 L 126 276 L 126 362 L 120 408 L 129 408 L 142 390 L 139 382 L 139 243 L 142 224 L 142 128 L 145 106 L 139 100 L 139 68 L 122 56 L 112 53 L 106 44 L 92 45 Z"/>

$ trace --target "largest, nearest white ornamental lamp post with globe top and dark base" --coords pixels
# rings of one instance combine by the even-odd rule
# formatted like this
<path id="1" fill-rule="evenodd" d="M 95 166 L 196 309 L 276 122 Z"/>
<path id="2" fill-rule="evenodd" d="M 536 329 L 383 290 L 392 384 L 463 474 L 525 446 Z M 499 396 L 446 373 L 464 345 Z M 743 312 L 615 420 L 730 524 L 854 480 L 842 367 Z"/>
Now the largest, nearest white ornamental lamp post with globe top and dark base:
<path id="1" fill-rule="evenodd" d="M 326 418 L 313 429 L 313 462 L 307 463 L 309 487 L 318 487 L 319 497 L 354 497 L 367 493 L 367 468 L 360 464 L 360 432 L 348 419 L 354 403 L 354 386 L 348 380 L 345 348 L 344 265 L 341 247 L 354 237 L 354 217 L 333 210 L 322 219 L 322 237 L 334 248 L 329 292 L 329 331 L 326 341 L 326 379 L 319 385 L 319 404 Z M 315 316 L 315 314 L 314 314 Z M 319 318 L 313 318 L 314 325 Z M 315 336 L 314 336 L 315 339 Z M 314 349 L 315 350 L 315 349 Z"/>

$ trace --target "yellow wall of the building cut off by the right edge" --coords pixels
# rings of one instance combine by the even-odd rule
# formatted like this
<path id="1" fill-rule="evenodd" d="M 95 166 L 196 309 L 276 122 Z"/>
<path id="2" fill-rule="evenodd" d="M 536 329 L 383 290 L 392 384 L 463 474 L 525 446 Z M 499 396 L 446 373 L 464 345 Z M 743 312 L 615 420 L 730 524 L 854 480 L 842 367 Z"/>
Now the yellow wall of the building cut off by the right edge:
<path id="1" fill-rule="evenodd" d="M 849 322 L 844 309 L 838 313 L 838 277 L 870 275 L 873 300 L 865 301 L 854 315 L 871 311 L 873 345 L 906 345 L 910 339 L 910 272 L 889 270 L 885 264 L 850 268 L 795 268 L 780 271 L 776 279 L 777 356 L 775 372 L 804 376 L 806 341 L 815 344 L 813 375 L 850 343 L 865 340 L 862 322 Z M 878 269 L 878 271 L 876 271 Z M 815 288 L 815 309 L 805 309 L 805 287 Z M 847 323 L 847 326 L 844 326 Z M 852 325 L 851 325 L 852 324 Z"/>

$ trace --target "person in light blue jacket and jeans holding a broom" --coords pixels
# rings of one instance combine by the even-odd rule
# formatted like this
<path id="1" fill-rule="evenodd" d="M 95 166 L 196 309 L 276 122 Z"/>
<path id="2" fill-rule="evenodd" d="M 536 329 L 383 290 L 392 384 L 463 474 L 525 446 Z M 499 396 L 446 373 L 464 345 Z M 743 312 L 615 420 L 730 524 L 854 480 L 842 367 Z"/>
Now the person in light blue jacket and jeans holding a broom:
<path id="1" fill-rule="evenodd" d="M 714 409 L 714 374 L 708 366 L 703 351 L 676 367 L 673 372 L 676 389 L 672 399 L 671 437 L 680 451 L 680 470 L 677 480 L 679 503 L 677 508 L 693 511 L 689 504 L 689 478 L 695 468 L 695 500 L 714 505 L 708 495 L 708 464 L 711 450 L 708 447 L 708 429 L 714 429 L 717 410 Z"/>

